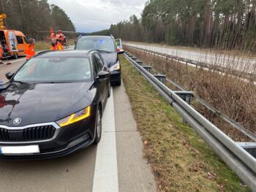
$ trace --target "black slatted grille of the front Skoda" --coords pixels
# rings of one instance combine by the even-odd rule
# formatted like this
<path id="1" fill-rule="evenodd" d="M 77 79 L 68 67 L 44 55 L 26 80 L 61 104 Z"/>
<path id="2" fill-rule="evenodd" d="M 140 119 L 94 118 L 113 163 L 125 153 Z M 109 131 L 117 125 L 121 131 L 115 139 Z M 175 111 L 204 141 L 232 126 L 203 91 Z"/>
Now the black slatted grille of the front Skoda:
<path id="1" fill-rule="evenodd" d="M 34 142 L 52 139 L 56 128 L 53 126 L 36 126 L 22 130 L 0 128 L 0 142 Z"/>

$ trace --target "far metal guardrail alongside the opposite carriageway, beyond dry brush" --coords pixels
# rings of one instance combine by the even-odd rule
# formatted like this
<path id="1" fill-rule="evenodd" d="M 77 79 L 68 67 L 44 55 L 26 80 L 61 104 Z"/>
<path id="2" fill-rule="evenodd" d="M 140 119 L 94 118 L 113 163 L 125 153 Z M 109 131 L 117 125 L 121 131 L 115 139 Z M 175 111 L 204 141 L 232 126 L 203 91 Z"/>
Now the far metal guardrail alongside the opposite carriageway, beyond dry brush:
<path id="1" fill-rule="evenodd" d="M 193 60 L 190 60 L 190 59 L 187 59 L 187 58 L 181 58 L 181 57 L 174 56 L 174 55 L 159 53 L 159 52 L 153 51 L 153 50 L 146 50 L 146 49 L 134 47 L 134 46 L 131 46 L 131 45 L 125 45 L 125 46 L 132 47 L 133 49 L 144 51 L 144 52 L 151 53 L 151 54 L 154 54 L 154 55 L 159 55 L 159 56 L 164 57 L 164 58 L 170 58 L 170 59 L 176 60 L 178 62 L 181 61 L 181 62 L 184 62 L 185 64 L 192 64 L 196 67 L 206 68 L 206 69 L 209 69 L 209 70 L 214 70 L 214 71 L 222 72 L 222 73 L 225 73 L 225 74 L 230 74 L 230 75 L 233 75 L 235 77 L 242 77 L 246 80 L 252 80 L 252 81 L 256 80 L 256 74 L 253 74 L 253 73 L 242 72 L 242 71 L 238 71 L 236 69 L 230 69 L 230 68 L 227 68 L 227 67 L 224 67 L 224 66 L 217 66 L 217 65 L 214 65 L 214 64 L 206 64 L 206 63 L 203 63 L 203 62 L 200 62 L 200 61 L 193 61 Z"/>

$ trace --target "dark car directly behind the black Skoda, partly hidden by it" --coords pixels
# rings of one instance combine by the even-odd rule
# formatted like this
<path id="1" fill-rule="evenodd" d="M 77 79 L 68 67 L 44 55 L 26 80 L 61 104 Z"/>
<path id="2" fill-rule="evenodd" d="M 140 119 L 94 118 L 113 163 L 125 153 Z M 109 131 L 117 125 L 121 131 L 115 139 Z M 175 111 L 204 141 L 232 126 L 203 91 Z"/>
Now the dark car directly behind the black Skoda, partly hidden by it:
<path id="1" fill-rule="evenodd" d="M 121 64 L 115 39 L 111 36 L 80 36 L 75 50 L 98 50 L 110 68 L 110 80 L 114 85 L 121 85 Z"/>

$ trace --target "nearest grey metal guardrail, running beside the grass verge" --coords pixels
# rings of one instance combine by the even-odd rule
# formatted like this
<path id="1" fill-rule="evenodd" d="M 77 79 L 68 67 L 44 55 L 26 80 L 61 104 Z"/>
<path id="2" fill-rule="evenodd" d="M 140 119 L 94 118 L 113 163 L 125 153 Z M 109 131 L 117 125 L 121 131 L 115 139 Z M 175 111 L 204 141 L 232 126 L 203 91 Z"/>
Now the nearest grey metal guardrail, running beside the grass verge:
<path id="1" fill-rule="evenodd" d="M 138 69 L 140 74 L 165 98 L 166 101 L 197 131 L 197 134 L 222 158 L 230 169 L 241 180 L 256 192 L 256 143 L 237 143 L 227 137 L 214 124 L 209 122 L 199 112 L 192 108 L 184 99 L 160 82 L 157 77 L 143 68 L 142 62 L 138 64 L 133 55 L 124 54 L 125 58 Z M 181 93 L 181 91 L 179 91 Z M 249 146 L 249 147 L 246 147 Z M 244 147 L 244 148 L 243 148 Z M 248 150 L 248 151 L 247 151 Z"/>

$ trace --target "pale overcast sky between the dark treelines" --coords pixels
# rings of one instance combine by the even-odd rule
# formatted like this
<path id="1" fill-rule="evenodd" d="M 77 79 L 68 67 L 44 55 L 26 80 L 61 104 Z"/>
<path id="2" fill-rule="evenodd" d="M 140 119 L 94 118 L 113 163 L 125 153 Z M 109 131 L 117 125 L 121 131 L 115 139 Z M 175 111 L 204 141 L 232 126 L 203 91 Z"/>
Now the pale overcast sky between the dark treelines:
<path id="1" fill-rule="evenodd" d="M 79 32 L 107 29 L 110 24 L 128 20 L 130 15 L 140 18 L 146 0 L 48 0 L 69 15 Z"/>

